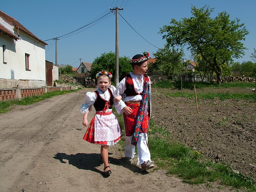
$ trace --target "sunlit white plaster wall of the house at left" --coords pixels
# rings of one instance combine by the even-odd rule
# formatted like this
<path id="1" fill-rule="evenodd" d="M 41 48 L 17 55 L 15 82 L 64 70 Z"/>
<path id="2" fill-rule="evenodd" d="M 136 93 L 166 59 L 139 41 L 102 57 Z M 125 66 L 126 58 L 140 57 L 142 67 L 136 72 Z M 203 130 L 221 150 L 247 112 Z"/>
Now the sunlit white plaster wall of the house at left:
<path id="1" fill-rule="evenodd" d="M 1 19 L 1 18 L 0 18 Z M 3 22 L 3 20 L 0 20 Z M 9 23 L 2 23 L 7 29 L 14 30 Z M 17 32 L 15 32 L 17 33 Z M 28 80 L 46 84 L 45 45 L 37 43 L 34 38 L 19 32 L 21 40 L 15 41 L 5 33 L 0 33 L 0 79 Z M 5 61 L 3 62 L 3 45 L 6 46 Z M 29 54 L 29 70 L 26 70 L 25 53 Z M 33 82 L 29 82 L 34 87 Z M 35 83 L 38 84 L 38 83 Z M 39 84 L 38 84 L 39 85 Z M 36 86 L 36 85 L 35 85 Z"/>

